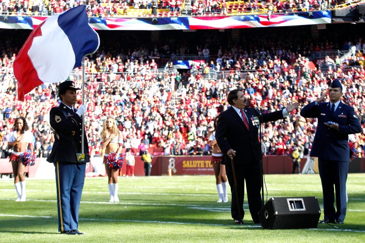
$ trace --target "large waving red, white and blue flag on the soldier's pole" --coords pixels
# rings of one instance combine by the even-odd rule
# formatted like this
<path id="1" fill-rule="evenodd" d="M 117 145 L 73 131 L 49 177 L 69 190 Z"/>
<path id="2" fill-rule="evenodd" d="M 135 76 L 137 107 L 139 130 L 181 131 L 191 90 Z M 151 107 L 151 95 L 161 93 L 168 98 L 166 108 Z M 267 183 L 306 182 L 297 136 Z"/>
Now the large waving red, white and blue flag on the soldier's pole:
<path id="1" fill-rule="evenodd" d="M 24 95 L 39 85 L 63 82 L 99 45 L 85 5 L 47 18 L 30 33 L 14 61 L 18 100 L 24 101 Z"/>

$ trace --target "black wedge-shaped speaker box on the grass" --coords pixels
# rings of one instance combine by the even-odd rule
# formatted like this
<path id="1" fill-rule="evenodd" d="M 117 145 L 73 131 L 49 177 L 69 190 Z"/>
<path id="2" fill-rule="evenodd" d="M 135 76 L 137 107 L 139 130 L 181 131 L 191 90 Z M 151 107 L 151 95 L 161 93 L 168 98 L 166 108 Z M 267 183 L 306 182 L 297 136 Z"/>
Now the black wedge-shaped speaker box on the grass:
<path id="1" fill-rule="evenodd" d="M 315 196 L 272 197 L 259 212 L 264 229 L 317 228 L 321 211 Z"/>

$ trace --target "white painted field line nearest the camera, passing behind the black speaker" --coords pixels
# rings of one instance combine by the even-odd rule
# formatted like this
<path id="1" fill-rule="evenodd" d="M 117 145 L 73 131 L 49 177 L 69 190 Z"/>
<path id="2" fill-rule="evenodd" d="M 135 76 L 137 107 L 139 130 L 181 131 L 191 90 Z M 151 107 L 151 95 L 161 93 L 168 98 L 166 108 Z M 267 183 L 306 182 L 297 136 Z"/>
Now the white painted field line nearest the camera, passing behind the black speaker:
<path id="1" fill-rule="evenodd" d="M 18 218 L 42 218 L 42 219 L 56 219 L 56 217 L 50 216 L 31 216 L 31 215 L 13 215 L 13 214 L 0 214 L 0 217 L 18 217 Z M 231 224 L 204 224 L 204 223 L 189 223 L 189 222 L 173 222 L 173 221 L 152 221 L 152 220 L 124 220 L 124 219 L 85 219 L 79 218 L 79 220 L 85 221 L 106 221 L 106 222 L 135 222 L 135 223 L 158 223 L 158 224 L 181 224 L 181 225 L 203 225 L 203 226 L 226 226 L 226 227 L 239 227 L 239 228 L 262 228 L 260 225 L 231 225 Z M 339 231 L 339 232 L 355 232 L 363 233 L 365 230 L 354 230 L 354 229 L 318 229 L 310 228 L 312 230 L 322 231 Z"/>

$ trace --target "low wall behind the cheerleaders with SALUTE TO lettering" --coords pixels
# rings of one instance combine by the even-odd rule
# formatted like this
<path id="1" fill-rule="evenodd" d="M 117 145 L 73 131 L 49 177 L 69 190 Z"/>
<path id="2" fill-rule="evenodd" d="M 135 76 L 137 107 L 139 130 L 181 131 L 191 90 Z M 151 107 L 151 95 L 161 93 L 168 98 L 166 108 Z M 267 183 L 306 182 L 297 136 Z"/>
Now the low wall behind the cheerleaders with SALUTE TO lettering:
<path id="1" fill-rule="evenodd" d="M 318 173 L 317 159 L 305 157 L 301 160 L 301 170 L 305 164 L 310 161 L 312 172 Z M 102 157 L 95 156 L 88 163 L 86 169 L 87 177 L 106 176 L 105 168 L 102 164 Z M 284 155 L 268 155 L 263 157 L 263 169 L 265 174 L 290 174 L 293 171 L 291 158 Z M 9 159 L 0 159 L 0 175 L 11 175 L 13 173 Z M 25 169 L 27 177 L 39 179 L 52 179 L 54 175 L 54 166 L 46 161 L 46 158 L 37 158 L 34 166 L 28 166 Z M 355 158 L 350 162 L 349 173 L 365 173 L 365 158 Z M 152 160 L 152 176 L 161 175 L 214 175 L 213 168 L 210 164 L 210 156 L 154 156 Z M 120 176 L 126 175 L 126 164 L 123 165 Z M 144 176 L 143 161 L 141 156 L 135 156 L 135 176 Z"/>

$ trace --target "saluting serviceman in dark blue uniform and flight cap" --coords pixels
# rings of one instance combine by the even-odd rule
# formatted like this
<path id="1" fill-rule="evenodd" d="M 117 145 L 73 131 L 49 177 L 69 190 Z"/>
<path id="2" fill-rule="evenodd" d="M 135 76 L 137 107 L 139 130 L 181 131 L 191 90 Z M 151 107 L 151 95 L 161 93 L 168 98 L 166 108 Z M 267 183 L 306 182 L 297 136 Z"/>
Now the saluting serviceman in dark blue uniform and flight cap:
<path id="1" fill-rule="evenodd" d="M 326 95 L 330 102 L 323 102 Z M 317 130 L 310 155 L 318 157 L 323 190 L 323 223 L 342 224 L 346 216 L 346 180 L 350 160 L 348 135 L 361 132 L 354 108 L 341 102 L 342 85 L 333 80 L 330 88 L 316 101 L 303 107 L 301 115 L 317 118 Z M 336 190 L 336 208 L 335 194 Z"/>

